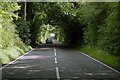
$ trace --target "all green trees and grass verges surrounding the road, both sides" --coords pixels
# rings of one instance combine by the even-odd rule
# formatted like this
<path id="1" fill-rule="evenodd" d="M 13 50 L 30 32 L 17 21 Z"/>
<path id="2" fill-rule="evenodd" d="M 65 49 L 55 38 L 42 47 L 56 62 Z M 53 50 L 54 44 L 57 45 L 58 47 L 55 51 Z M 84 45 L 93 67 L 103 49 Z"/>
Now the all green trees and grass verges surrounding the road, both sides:
<path id="1" fill-rule="evenodd" d="M 120 70 L 119 14 L 120 2 L 27 2 L 26 9 L 24 2 L 1 2 L 0 59 L 7 63 L 54 33 L 58 41 L 77 44 Z"/>

